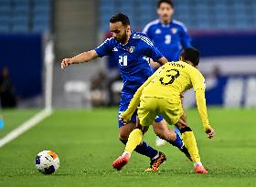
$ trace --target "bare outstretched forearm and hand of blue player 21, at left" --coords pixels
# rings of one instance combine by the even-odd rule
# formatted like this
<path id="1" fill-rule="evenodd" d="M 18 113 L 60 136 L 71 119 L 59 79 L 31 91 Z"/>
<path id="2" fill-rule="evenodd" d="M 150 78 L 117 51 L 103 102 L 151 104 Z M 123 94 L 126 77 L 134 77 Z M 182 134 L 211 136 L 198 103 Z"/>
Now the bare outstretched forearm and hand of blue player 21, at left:
<path id="1" fill-rule="evenodd" d="M 89 62 L 92 59 L 95 59 L 96 57 L 99 57 L 98 54 L 96 53 L 95 50 L 91 50 L 91 51 L 87 51 L 87 52 L 83 52 L 78 56 L 75 57 L 71 57 L 71 58 L 64 58 L 61 61 L 61 68 L 66 68 L 69 65 L 72 64 L 80 64 L 83 62 Z"/>

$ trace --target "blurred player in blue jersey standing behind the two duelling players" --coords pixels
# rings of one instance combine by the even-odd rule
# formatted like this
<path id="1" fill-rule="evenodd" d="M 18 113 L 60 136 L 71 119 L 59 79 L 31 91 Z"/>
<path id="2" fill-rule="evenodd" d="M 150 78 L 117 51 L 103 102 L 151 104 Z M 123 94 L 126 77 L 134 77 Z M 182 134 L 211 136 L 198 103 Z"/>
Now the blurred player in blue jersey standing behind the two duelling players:
<path id="1" fill-rule="evenodd" d="M 159 18 L 148 23 L 143 30 L 146 36 L 153 41 L 155 47 L 167 58 L 168 62 L 177 61 L 182 48 L 191 47 L 187 28 L 183 23 L 172 18 L 174 13 L 175 9 L 172 0 L 159 0 L 157 2 Z M 153 60 L 151 60 L 150 65 L 153 72 L 160 67 Z M 156 146 L 164 144 L 165 140 L 156 138 Z"/>

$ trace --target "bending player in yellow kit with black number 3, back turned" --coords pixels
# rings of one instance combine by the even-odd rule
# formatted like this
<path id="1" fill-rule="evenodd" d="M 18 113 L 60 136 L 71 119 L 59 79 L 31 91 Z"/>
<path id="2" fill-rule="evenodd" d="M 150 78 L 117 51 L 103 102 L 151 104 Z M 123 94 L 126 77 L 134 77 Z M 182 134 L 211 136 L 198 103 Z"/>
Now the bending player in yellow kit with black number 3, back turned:
<path id="1" fill-rule="evenodd" d="M 129 122 L 133 112 L 137 109 L 140 124 L 137 124 L 137 128 L 129 135 L 123 155 L 113 161 L 114 168 L 123 168 L 130 160 L 133 150 L 142 141 L 144 129 L 153 123 L 157 115 L 162 115 L 171 125 L 186 125 L 180 119 L 183 114 L 180 94 L 190 88 L 195 89 L 197 109 L 204 130 L 209 139 L 214 137 L 215 131 L 208 122 L 205 78 L 197 70 L 199 52 L 193 47 L 185 48 L 179 60 L 166 63 L 148 78 L 134 94 L 128 109 L 123 112 L 121 119 L 123 122 Z M 185 128 L 189 129 L 189 127 Z M 174 131 L 172 132 L 172 140 L 176 142 L 177 135 Z M 197 171 L 197 166 L 195 170 Z M 208 173 L 208 171 L 202 170 L 199 173 Z"/>

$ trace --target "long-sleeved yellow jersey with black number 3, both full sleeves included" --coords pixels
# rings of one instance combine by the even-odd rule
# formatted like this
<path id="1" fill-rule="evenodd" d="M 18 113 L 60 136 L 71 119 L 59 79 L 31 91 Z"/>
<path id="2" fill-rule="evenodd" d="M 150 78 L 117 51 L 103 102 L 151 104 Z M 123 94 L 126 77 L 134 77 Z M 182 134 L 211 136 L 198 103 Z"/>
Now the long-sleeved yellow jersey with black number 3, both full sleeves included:
<path id="1" fill-rule="evenodd" d="M 180 95 L 187 89 L 194 88 L 197 99 L 197 109 L 202 119 L 205 130 L 210 128 L 205 99 L 205 78 L 197 68 L 183 61 L 168 62 L 148 78 L 144 84 L 138 88 L 126 109 L 122 118 L 129 121 L 133 112 L 140 103 L 140 98 L 165 98 L 180 100 Z M 178 99 L 178 100 L 177 100 Z"/>

